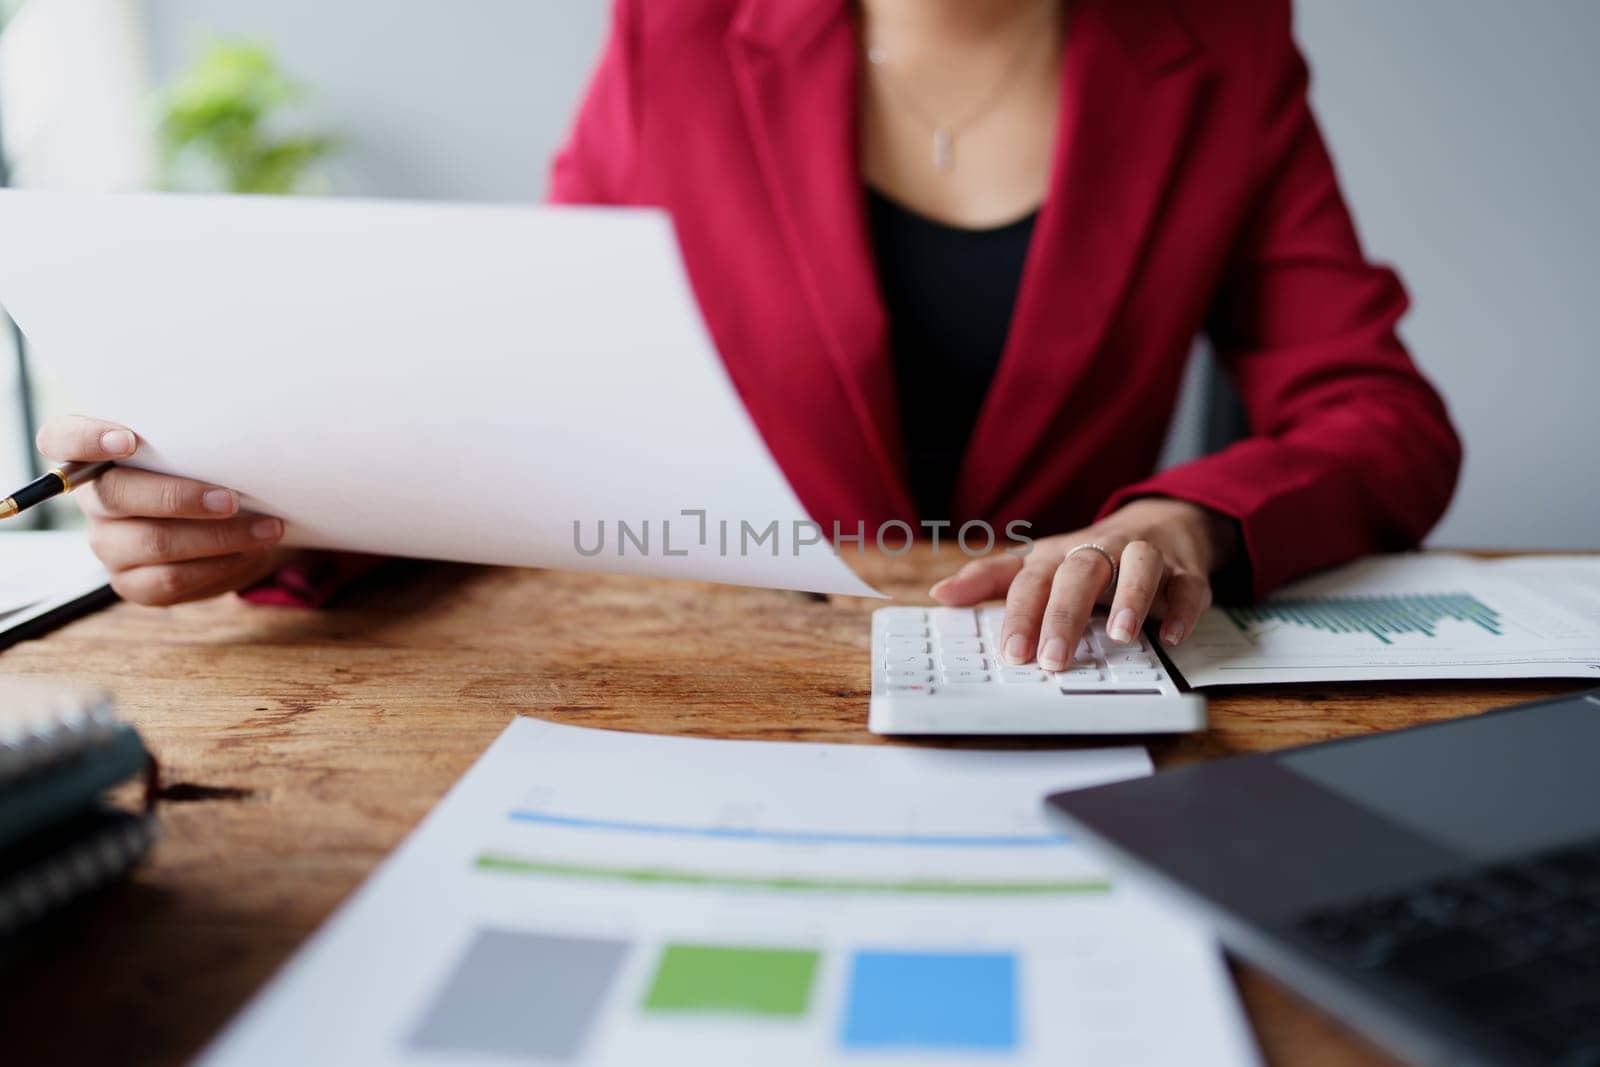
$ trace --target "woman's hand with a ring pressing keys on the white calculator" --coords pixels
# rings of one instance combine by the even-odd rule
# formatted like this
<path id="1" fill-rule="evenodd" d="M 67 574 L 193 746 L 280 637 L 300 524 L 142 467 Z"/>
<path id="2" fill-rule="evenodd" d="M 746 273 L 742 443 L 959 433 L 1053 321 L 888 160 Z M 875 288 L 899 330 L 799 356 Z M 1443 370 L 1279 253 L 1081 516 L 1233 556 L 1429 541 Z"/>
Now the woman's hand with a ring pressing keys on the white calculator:
<path id="1" fill-rule="evenodd" d="M 1237 526 L 1218 512 L 1168 498 L 1142 498 L 1093 526 L 1040 537 L 1027 555 L 973 560 L 930 592 L 942 605 L 1005 597 L 1000 654 L 1064 670 L 1096 603 L 1110 603 L 1107 635 L 1128 643 L 1147 617 L 1162 619 L 1162 641 L 1178 645 L 1211 605 L 1211 574 L 1238 550 Z M 1118 560 L 1112 587 L 1110 561 Z"/>

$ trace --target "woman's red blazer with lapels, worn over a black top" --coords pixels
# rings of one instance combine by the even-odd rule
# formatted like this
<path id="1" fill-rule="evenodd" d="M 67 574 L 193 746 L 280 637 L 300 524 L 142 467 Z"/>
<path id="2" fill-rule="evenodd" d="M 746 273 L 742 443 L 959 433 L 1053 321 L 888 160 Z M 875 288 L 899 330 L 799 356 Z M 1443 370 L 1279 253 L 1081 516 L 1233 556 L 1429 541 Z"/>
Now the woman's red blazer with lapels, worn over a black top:
<path id="1" fill-rule="evenodd" d="M 1306 101 L 1288 0 L 1070 0 L 1061 128 L 955 515 L 1034 534 L 1166 494 L 1254 592 L 1414 544 L 1461 448 L 1395 336 Z M 846 0 L 618 0 L 560 203 L 669 210 L 728 373 L 813 517 L 915 522 L 869 248 Z M 1152 469 L 1206 331 L 1253 437 Z"/>

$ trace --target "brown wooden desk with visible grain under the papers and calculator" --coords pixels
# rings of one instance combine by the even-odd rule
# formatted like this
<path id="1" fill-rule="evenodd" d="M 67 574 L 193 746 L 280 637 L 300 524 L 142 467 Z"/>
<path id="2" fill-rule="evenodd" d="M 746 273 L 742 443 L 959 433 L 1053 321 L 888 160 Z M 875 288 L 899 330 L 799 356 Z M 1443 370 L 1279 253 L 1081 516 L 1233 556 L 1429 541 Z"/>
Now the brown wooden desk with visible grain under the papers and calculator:
<path id="1" fill-rule="evenodd" d="M 958 558 L 867 558 L 920 598 Z M 867 614 L 798 593 L 405 565 L 307 613 L 235 598 L 117 605 L 0 653 L 6 675 L 110 688 L 163 763 L 165 838 L 130 885 L 0 976 L 8 1064 L 197 1053 L 515 713 L 702 737 L 875 742 Z M 72 664 L 70 670 L 64 664 Z M 1218 693 L 1162 766 L 1392 729 L 1576 688 Z M 1381 1057 L 1238 968 L 1272 1064 Z M 74 1049 L 67 1053 L 66 1049 Z"/>

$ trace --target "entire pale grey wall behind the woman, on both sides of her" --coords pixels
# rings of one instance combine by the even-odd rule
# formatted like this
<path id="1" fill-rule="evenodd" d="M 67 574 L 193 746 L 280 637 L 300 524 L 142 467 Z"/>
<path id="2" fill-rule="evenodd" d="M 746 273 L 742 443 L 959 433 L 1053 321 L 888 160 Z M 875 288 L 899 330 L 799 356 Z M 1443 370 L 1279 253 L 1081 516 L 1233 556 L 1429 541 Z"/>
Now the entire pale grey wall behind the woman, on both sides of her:
<path id="1" fill-rule="evenodd" d="M 474 200 L 542 194 L 608 8 L 144 3 L 157 78 L 205 30 L 275 42 L 350 139 L 341 192 Z M 1299 0 L 1298 34 L 1362 234 L 1411 290 L 1405 338 L 1467 438 L 1434 542 L 1600 547 L 1600 3 Z"/>

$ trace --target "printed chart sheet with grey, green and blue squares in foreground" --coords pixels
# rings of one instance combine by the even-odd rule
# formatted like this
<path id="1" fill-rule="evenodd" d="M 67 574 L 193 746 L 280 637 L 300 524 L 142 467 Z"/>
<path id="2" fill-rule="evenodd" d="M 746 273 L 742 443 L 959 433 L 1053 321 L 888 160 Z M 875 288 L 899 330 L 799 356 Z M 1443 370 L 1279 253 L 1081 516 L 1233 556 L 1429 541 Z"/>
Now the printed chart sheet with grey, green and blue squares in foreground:
<path id="1" fill-rule="evenodd" d="M 1149 766 L 518 718 L 202 1062 L 1256 1062 L 1210 936 L 1043 814 Z"/>

